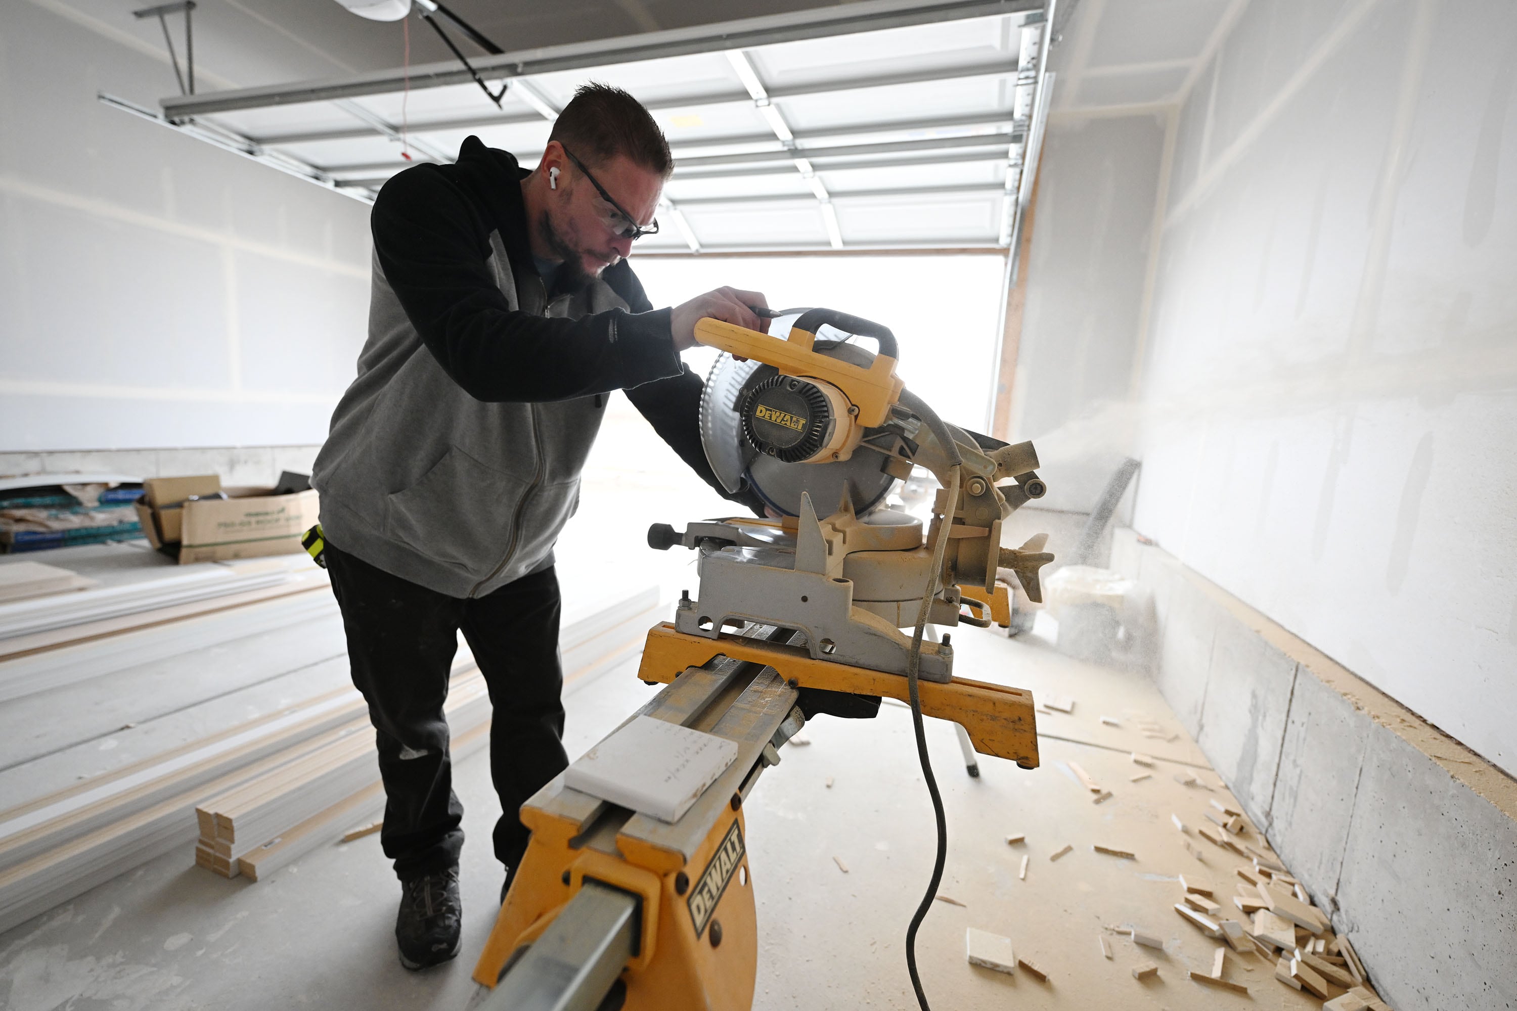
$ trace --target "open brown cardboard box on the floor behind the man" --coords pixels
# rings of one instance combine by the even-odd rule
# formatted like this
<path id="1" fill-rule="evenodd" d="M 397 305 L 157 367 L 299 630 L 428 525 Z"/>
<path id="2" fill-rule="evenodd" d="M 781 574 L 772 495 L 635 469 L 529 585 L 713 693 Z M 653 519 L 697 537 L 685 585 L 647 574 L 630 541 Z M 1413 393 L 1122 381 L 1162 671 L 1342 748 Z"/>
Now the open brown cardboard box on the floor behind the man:
<path id="1" fill-rule="evenodd" d="M 273 488 L 221 488 L 215 474 L 155 477 L 143 482 L 137 514 L 153 547 L 174 552 L 179 564 L 294 555 L 316 526 L 316 491 L 273 494 Z M 199 499 L 226 493 L 226 499 Z"/>

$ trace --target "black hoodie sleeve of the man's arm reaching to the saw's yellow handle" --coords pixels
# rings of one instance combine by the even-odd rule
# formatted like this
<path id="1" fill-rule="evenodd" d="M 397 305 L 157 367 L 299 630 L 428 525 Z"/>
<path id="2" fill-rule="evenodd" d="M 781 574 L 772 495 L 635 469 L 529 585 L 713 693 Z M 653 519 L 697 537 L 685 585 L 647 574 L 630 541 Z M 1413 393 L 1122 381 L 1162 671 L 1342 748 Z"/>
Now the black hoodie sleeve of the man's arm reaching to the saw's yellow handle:
<path id="1" fill-rule="evenodd" d="M 569 400 L 681 374 L 669 309 L 579 320 L 511 309 L 487 265 L 488 227 L 432 165 L 387 182 L 370 223 L 379 268 L 405 315 L 476 400 Z"/>

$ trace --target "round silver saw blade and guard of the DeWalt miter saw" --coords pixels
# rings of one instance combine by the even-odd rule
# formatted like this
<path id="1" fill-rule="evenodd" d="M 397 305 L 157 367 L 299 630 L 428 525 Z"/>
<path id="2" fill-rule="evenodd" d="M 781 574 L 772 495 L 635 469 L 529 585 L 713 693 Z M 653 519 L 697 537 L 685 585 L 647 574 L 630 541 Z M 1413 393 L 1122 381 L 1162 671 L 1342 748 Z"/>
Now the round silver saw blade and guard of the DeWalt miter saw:
<path id="1" fill-rule="evenodd" d="M 777 320 L 777 323 L 786 323 Z M 789 332 L 789 326 L 772 327 Z M 856 365 L 868 367 L 874 355 L 856 344 L 834 343 L 816 350 Z M 818 515 L 830 515 L 842 502 L 848 488 L 854 512 L 863 515 L 877 508 L 895 479 L 880 470 L 883 458 L 866 449 L 856 450 L 850 459 L 836 464 L 786 464 L 754 450 L 743 438 L 737 403 L 758 370 L 772 373 L 772 367 L 757 361 L 737 361 L 731 355 L 718 356 L 705 379 L 701 394 L 701 446 L 711 464 L 716 479 L 727 491 L 737 491 L 743 480 L 786 515 L 801 514 L 801 494 L 810 493 L 812 508 Z"/>

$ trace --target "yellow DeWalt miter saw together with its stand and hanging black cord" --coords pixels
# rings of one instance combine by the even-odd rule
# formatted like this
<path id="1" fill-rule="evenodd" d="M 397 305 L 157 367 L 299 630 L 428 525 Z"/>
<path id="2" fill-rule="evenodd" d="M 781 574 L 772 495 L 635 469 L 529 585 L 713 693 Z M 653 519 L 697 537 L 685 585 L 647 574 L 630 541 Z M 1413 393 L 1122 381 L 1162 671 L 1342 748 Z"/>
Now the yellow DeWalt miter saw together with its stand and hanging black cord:
<path id="1" fill-rule="evenodd" d="M 1032 444 L 944 423 L 897 377 L 895 336 L 877 323 L 807 309 L 771 329 L 695 326 L 699 343 L 724 352 L 701 400 L 707 459 L 728 491 L 757 493 L 768 518 L 649 531 L 652 547 L 699 553 L 699 590 L 681 597 L 674 623 L 649 631 L 639 676 L 666 687 L 633 717 L 725 738 L 737 758 L 674 823 L 561 776 L 528 800 L 531 843 L 475 967 L 492 988 L 487 1006 L 751 1008 L 757 932 L 742 800 L 806 723 L 798 702 L 831 693 L 912 705 L 939 829 L 907 931 L 925 1008 L 915 932 L 947 843 L 921 717 L 959 723 L 981 753 L 1038 765 L 1032 694 L 956 678 L 951 638 L 925 641 L 928 624 L 1006 624 L 1003 573 L 1041 600 L 1047 538 L 1000 546 L 1004 518 L 1045 491 Z M 925 534 L 890 506 L 915 467 L 941 485 Z"/>

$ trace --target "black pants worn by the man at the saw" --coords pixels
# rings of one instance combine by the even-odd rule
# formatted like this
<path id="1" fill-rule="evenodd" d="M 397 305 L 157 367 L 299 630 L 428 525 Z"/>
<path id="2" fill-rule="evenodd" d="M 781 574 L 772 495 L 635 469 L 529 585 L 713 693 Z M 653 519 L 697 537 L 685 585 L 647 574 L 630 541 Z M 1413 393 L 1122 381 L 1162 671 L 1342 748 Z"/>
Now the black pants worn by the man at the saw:
<path id="1" fill-rule="evenodd" d="M 522 803 L 569 765 L 563 747 L 558 576 L 552 568 L 460 600 L 391 576 L 326 543 L 353 685 L 379 744 L 385 812 L 379 840 L 402 879 L 458 862 L 464 808 L 448 756 L 448 673 L 458 631 L 495 709 L 490 776 L 501 797 L 495 855 L 516 867 L 529 832 Z"/>

